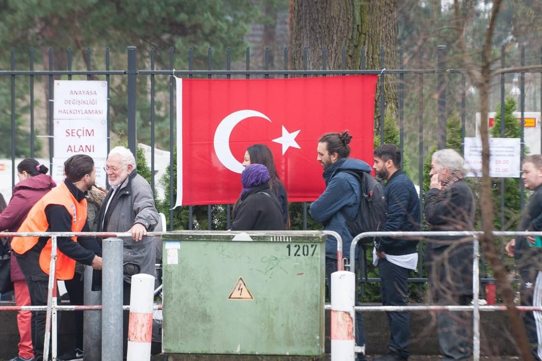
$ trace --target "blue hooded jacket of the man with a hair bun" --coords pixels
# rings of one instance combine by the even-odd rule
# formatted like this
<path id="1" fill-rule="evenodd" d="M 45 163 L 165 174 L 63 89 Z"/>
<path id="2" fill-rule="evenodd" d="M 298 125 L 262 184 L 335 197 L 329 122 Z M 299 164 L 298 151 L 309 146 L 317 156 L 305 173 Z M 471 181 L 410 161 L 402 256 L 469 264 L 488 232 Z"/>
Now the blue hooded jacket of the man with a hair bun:
<path id="1" fill-rule="evenodd" d="M 343 239 L 343 257 L 350 258 L 350 245 L 354 238 L 350 234 L 341 209 L 351 219 L 358 213 L 361 199 L 359 182 L 355 176 L 341 170 L 371 172 L 371 167 L 362 160 L 341 158 L 324 172 L 326 190 L 311 204 L 311 216 L 324 225 L 326 231 L 335 231 Z M 337 239 L 331 235 L 326 241 L 326 257 L 337 259 Z"/>

